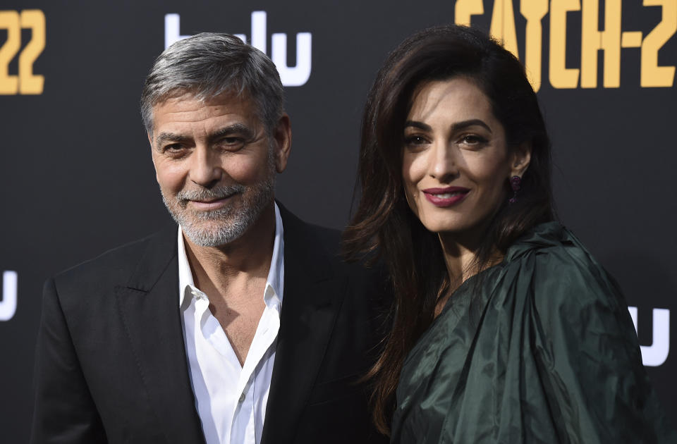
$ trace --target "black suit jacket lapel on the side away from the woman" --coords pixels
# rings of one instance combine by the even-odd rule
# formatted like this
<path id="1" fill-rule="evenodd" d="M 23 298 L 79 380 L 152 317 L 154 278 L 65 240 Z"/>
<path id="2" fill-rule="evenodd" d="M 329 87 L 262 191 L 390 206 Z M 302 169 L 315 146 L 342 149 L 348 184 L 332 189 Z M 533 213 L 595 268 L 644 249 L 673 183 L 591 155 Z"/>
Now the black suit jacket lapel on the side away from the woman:
<path id="1" fill-rule="evenodd" d="M 178 307 L 176 226 L 147 242 L 129 282 L 116 288 L 120 316 L 166 442 L 204 443 Z"/>

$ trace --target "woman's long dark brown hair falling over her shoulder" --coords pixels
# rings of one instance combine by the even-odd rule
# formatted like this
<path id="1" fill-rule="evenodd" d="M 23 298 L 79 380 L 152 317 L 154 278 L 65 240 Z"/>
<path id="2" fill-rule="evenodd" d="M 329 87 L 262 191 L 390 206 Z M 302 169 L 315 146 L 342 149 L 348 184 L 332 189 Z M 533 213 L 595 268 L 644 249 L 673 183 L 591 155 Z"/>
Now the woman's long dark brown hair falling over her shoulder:
<path id="1" fill-rule="evenodd" d="M 456 25 L 423 30 L 400 44 L 367 97 L 358 165 L 362 196 L 343 233 L 348 258 L 375 253 L 391 277 L 391 331 L 369 374 L 375 378 L 374 421 L 383 433 L 389 433 L 403 360 L 434 319 L 439 295 L 449 290 L 439 238 L 422 226 L 405 200 L 404 123 L 417 85 L 456 77 L 472 80 L 488 97 L 494 116 L 504 125 L 508 149 L 526 142 L 532 150 L 514 204 L 508 204 L 506 178 L 504 204 L 488 224 L 475 270 L 484 269 L 496 249 L 504 254 L 525 231 L 553 218 L 550 142 L 536 94 L 518 59 L 480 30 Z"/>

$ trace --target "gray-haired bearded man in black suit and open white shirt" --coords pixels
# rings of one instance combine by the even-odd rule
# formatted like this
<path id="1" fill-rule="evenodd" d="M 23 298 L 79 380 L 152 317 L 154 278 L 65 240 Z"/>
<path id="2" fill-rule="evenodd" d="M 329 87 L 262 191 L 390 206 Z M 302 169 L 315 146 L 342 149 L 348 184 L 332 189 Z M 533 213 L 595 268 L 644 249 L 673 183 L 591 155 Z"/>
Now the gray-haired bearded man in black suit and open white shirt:
<path id="1" fill-rule="evenodd" d="M 166 49 L 141 99 L 178 223 L 45 285 L 33 443 L 367 443 L 374 285 L 274 200 L 291 148 L 273 63 Z"/>

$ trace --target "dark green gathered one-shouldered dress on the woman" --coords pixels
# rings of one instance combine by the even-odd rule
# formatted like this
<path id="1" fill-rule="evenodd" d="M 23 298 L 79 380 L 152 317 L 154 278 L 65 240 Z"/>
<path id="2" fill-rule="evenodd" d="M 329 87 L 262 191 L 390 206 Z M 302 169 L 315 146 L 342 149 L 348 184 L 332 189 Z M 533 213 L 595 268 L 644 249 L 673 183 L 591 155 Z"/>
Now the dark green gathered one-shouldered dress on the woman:
<path id="1" fill-rule="evenodd" d="M 463 283 L 408 354 L 392 443 L 677 443 L 614 280 L 537 226 Z"/>

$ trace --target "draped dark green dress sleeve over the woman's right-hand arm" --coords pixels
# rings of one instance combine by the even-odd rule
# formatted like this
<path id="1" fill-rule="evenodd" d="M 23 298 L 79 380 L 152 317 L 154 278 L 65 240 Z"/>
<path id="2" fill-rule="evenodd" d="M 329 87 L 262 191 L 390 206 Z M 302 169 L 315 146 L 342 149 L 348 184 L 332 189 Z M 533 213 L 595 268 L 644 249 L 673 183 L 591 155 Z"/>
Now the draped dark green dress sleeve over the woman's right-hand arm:
<path id="1" fill-rule="evenodd" d="M 520 350 L 530 350 L 561 424 L 585 424 L 586 442 L 673 442 L 621 290 L 578 238 L 559 223 L 537 226 L 504 268 L 523 308 L 511 328 L 528 338 Z"/>

